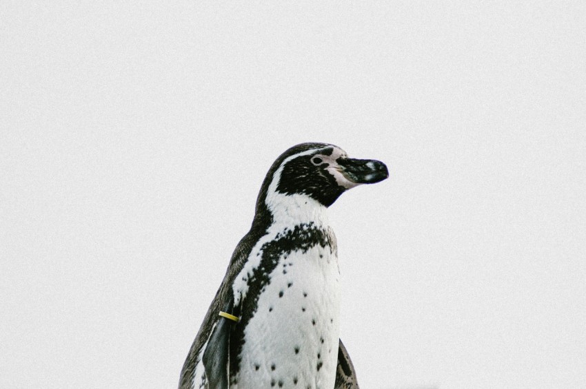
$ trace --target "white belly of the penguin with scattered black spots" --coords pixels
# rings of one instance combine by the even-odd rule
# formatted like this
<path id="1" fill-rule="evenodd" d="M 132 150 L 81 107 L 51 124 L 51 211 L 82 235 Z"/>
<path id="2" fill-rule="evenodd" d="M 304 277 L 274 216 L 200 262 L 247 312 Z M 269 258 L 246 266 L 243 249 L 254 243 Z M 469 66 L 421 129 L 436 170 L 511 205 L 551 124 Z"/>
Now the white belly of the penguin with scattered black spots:
<path id="1" fill-rule="evenodd" d="M 334 388 L 339 277 L 329 248 L 281 255 L 245 328 L 236 388 Z"/>

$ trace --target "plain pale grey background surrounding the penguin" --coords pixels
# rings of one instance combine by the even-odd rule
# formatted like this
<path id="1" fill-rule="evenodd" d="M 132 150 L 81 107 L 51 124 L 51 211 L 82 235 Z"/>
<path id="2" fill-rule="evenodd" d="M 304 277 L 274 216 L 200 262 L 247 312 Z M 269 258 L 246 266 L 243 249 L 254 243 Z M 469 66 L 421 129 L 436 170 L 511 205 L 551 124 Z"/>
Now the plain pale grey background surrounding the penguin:
<path id="1" fill-rule="evenodd" d="M 586 388 L 585 4 L 2 1 L 0 387 L 175 388 L 319 141 L 363 388 Z"/>

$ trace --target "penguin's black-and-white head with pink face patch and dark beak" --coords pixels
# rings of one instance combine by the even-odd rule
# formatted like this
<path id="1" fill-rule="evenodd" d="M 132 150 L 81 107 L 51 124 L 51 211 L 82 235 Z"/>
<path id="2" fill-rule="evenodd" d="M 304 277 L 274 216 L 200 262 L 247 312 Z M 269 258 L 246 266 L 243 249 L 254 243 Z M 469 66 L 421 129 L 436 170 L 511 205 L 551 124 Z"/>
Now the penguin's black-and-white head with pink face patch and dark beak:
<path id="1" fill-rule="evenodd" d="M 270 210 L 275 202 L 292 198 L 296 203 L 330 207 L 348 189 L 388 176 L 387 167 L 378 160 L 348 158 L 343 149 L 326 143 L 302 143 L 273 163 L 259 193 L 257 213 L 259 207 Z"/>

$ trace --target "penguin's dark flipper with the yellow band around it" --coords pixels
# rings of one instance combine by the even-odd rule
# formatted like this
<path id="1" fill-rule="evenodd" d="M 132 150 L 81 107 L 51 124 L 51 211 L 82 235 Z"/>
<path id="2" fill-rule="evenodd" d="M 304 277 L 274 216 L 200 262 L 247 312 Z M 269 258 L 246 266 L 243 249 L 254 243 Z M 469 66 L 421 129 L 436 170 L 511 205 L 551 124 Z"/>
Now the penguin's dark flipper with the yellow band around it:
<path id="1" fill-rule="evenodd" d="M 224 306 L 224 312 L 232 312 L 234 299 L 230 299 Z M 210 389 L 228 389 L 228 370 L 230 368 L 230 333 L 232 333 L 232 321 L 220 317 L 214 328 L 208 346 L 203 350 L 203 368 L 208 379 Z"/>

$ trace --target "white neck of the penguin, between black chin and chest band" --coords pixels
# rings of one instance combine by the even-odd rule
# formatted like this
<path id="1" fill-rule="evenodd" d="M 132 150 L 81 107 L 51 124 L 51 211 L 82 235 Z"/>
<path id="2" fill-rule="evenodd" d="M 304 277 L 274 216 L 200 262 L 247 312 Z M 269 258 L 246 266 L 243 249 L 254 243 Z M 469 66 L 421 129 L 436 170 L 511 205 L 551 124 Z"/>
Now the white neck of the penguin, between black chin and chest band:
<path id="1" fill-rule="evenodd" d="M 267 196 L 266 204 L 272 216 L 272 224 L 314 224 L 318 228 L 330 225 L 327 207 L 305 194 L 272 193 L 272 196 Z"/>

